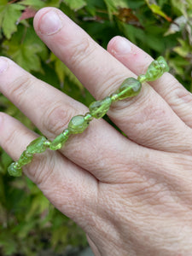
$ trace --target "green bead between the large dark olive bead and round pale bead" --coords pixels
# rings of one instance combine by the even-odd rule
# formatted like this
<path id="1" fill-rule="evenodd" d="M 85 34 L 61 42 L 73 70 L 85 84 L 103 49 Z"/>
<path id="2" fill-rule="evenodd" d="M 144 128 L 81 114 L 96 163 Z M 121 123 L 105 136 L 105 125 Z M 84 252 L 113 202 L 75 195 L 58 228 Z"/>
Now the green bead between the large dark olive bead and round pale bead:
<path id="1" fill-rule="evenodd" d="M 109 96 L 102 101 L 92 102 L 89 107 L 91 116 L 101 119 L 108 112 L 111 103 L 112 99 Z"/>

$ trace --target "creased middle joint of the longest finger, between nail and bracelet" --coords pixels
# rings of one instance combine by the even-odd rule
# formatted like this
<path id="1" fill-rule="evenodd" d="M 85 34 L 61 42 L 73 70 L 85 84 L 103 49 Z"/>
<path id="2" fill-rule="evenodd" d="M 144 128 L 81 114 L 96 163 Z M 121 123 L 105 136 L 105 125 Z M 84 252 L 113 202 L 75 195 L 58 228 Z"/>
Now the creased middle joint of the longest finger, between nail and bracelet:
<path id="1" fill-rule="evenodd" d="M 94 47 L 90 38 L 84 38 L 79 44 L 73 44 L 72 53 L 70 56 L 70 62 L 73 67 L 79 66 L 79 62 L 87 61 L 91 52 L 94 51 Z"/>

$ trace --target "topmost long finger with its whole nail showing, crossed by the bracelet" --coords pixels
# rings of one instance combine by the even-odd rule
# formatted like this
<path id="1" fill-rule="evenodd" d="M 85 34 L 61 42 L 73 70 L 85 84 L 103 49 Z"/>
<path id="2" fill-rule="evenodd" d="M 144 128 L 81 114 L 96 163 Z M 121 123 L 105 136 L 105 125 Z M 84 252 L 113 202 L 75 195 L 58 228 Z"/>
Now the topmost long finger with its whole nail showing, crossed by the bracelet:
<path id="1" fill-rule="evenodd" d="M 41 9 L 35 16 L 34 27 L 45 44 L 97 99 L 113 93 L 125 78 L 136 76 L 60 10 Z M 148 84 L 139 96 L 117 102 L 112 109 L 108 115 L 131 140 L 149 148 L 174 152 L 186 147 L 186 138 L 177 134 L 187 128 Z M 186 134 L 190 135 L 191 131 L 187 130 Z"/>

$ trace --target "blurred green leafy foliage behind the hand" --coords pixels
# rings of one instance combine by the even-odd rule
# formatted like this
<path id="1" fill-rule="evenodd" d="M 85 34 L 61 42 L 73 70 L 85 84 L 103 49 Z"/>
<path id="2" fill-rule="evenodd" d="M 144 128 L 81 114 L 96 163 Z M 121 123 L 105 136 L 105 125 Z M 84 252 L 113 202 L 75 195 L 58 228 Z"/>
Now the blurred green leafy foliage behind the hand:
<path id="1" fill-rule="evenodd" d="M 129 38 L 153 55 L 164 55 L 171 73 L 191 90 L 191 0 L 1 0 L 0 55 L 8 56 L 38 79 L 89 105 L 92 96 L 36 36 L 24 14 L 42 7 L 60 8 L 106 48 L 115 35 Z M 30 17 L 30 15 L 29 15 Z M 0 95 L 0 111 L 38 131 Z M 44 248 L 84 247 L 84 233 L 54 209 L 28 178 L 9 177 L 11 159 L 0 148 L 0 254 L 38 255 Z"/>

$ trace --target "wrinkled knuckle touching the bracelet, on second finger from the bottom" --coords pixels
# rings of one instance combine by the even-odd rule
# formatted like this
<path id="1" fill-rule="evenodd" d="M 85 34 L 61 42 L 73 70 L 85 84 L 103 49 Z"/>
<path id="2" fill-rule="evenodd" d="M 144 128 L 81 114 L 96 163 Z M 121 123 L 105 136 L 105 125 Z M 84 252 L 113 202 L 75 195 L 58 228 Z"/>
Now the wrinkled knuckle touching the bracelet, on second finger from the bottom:
<path id="1" fill-rule="evenodd" d="M 60 102 L 55 103 L 52 108 L 48 108 L 44 113 L 43 130 L 48 131 L 50 135 L 59 134 L 65 128 L 73 117 L 72 109 L 66 109 Z"/>

